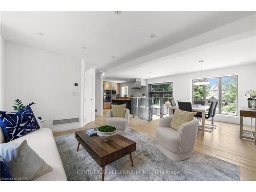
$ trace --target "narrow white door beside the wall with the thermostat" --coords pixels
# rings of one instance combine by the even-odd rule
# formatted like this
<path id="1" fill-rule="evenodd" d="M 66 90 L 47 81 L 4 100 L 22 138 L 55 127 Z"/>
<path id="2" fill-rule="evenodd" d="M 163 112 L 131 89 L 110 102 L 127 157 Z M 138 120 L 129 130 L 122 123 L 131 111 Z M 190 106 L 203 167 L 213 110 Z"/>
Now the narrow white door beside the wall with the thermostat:
<path id="1" fill-rule="evenodd" d="M 84 124 L 92 122 L 93 119 L 93 77 L 84 73 Z"/>

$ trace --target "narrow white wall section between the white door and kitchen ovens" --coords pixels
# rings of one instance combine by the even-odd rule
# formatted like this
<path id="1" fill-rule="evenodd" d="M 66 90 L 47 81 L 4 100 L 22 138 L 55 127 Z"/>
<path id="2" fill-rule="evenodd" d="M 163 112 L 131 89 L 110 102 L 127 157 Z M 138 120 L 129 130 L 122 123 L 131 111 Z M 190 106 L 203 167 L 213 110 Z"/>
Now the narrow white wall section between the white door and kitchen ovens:
<path id="1" fill-rule="evenodd" d="M 103 115 L 103 79 L 101 78 L 100 73 L 96 75 L 95 79 L 95 112 L 96 116 Z"/>

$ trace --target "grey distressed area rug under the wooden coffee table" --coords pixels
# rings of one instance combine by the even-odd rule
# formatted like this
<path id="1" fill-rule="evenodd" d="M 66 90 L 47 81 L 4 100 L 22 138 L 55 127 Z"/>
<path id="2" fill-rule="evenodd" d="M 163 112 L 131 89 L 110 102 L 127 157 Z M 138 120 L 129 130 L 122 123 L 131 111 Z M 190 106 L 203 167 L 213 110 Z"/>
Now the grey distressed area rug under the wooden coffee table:
<path id="1" fill-rule="evenodd" d="M 221 159 L 193 152 L 185 161 L 172 161 L 157 148 L 157 141 L 147 134 L 127 129 L 123 136 L 137 142 L 132 153 L 105 166 L 105 181 L 238 181 L 240 167 Z M 80 145 L 76 152 L 75 134 L 55 137 L 69 181 L 100 181 L 101 167 Z"/>

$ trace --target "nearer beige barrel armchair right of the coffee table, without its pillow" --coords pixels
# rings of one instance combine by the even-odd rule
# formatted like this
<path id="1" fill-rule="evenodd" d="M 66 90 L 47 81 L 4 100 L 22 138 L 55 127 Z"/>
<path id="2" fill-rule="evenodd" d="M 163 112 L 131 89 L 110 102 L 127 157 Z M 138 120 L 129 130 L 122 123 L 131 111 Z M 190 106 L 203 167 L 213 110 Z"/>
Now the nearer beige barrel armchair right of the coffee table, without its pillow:
<path id="1" fill-rule="evenodd" d="M 169 127 L 173 116 L 160 119 L 156 130 L 159 150 L 173 161 L 189 159 L 197 138 L 198 120 L 186 122 L 178 131 Z"/>

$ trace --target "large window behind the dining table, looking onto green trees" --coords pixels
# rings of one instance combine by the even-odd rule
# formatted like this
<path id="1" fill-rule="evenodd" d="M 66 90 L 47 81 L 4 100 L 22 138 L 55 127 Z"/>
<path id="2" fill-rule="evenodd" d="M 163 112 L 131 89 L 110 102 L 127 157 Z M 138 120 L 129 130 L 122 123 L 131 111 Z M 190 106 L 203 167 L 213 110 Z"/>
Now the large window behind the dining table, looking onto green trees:
<path id="1" fill-rule="evenodd" d="M 194 82 L 207 80 L 209 84 L 195 85 Z M 219 101 L 216 113 L 237 115 L 238 76 L 226 76 L 206 79 L 195 79 L 192 100 L 194 103 L 204 101 L 206 105 Z M 221 109 L 221 110 L 219 110 Z"/>

